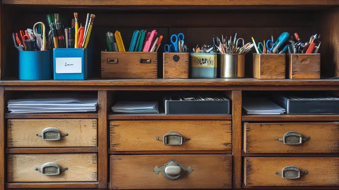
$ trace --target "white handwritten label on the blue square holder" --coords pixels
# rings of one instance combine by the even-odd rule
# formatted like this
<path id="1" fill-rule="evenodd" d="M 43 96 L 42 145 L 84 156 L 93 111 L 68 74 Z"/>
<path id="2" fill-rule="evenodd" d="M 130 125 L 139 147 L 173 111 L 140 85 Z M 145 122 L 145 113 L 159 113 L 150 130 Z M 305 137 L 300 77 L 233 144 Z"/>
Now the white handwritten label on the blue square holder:
<path id="1" fill-rule="evenodd" d="M 55 73 L 82 73 L 81 57 L 56 57 Z"/>

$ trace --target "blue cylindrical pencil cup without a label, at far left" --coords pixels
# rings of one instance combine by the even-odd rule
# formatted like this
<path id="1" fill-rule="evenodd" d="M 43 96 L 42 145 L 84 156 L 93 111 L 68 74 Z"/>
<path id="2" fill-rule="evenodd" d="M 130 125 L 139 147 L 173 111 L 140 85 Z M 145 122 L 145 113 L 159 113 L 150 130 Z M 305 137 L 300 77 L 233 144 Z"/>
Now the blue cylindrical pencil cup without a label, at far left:
<path id="1" fill-rule="evenodd" d="M 51 75 L 51 51 L 19 51 L 19 80 L 48 80 Z"/>

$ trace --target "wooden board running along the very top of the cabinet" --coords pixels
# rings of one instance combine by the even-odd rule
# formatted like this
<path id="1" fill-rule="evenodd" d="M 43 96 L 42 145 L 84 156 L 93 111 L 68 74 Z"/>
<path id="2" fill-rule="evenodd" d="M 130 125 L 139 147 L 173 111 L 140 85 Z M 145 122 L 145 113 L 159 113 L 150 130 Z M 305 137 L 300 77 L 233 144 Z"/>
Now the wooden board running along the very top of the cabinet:
<path id="1" fill-rule="evenodd" d="M 338 5 L 337 0 L 2 0 L 3 4 L 34 5 Z"/>

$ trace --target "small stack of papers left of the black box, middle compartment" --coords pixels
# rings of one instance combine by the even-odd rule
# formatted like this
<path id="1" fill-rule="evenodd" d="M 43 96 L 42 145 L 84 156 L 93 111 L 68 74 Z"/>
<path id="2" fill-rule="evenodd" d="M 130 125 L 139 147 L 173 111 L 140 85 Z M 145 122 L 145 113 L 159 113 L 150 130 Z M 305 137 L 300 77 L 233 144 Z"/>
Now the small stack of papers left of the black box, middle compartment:
<path id="1" fill-rule="evenodd" d="M 159 113 L 158 102 L 119 101 L 112 106 L 118 113 Z"/>

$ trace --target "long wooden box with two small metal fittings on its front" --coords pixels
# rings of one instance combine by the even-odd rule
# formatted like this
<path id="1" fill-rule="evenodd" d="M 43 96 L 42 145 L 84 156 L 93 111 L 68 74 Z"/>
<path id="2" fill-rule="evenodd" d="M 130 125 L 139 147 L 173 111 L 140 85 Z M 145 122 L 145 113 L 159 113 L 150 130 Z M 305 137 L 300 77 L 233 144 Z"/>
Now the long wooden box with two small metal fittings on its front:
<path id="1" fill-rule="evenodd" d="M 158 78 L 158 54 L 101 52 L 101 78 Z"/>

